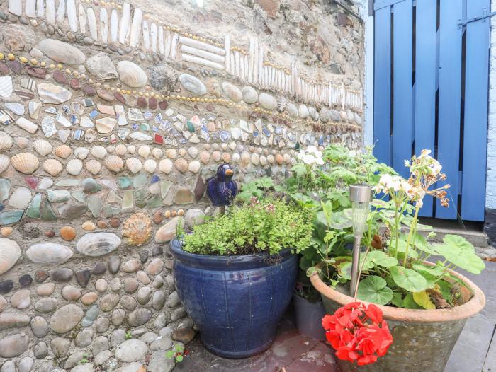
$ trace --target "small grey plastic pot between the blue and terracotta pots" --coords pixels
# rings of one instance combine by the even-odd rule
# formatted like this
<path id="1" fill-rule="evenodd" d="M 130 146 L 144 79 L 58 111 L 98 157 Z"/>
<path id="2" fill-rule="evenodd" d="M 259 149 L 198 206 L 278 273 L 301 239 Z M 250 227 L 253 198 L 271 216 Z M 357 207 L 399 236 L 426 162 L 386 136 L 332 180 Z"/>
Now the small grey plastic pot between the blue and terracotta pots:
<path id="1" fill-rule="evenodd" d="M 294 294 L 293 304 L 298 332 L 301 335 L 324 341 L 325 330 L 322 328 L 322 318 L 325 315 L 325 308 L 322 301 L 312 303 L 306 298 Z"/>

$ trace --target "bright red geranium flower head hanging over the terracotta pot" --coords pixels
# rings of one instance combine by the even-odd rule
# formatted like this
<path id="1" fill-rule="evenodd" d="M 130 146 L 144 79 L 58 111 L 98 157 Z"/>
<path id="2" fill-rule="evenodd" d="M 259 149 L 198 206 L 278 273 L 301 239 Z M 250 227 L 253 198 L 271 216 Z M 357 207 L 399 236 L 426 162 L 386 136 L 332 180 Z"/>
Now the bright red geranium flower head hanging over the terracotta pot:
<path id="1" fill-rule="evenodd" d="M 347 303 L 334 315 L 325 315 L 322 327 L 337 358 L 359 366 L 375 363 L 393 343 L 383 312 L 373 304 Z"/>

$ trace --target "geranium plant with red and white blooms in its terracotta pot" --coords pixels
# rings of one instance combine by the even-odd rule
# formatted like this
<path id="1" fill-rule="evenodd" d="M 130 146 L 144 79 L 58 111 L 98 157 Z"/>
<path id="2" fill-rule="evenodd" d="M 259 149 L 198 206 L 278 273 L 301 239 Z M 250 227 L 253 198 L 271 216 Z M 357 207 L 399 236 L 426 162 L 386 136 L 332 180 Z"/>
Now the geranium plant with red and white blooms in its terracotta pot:
<path id="1" fill-rule="evenodd" d="M 350 256 L 331 255 L 308 273 L 327 313 L 333 314 L 326 315 L 322 325 L 344 372 L 444 371 L 466 320 L 485 305 L 483 292 L 453 271 L 459 267 L 479 274 L 484 269 L 473 246 L 453 235 L 433 244 L 432 233 L 427 238 L 419 233 L 424 196 L 440 199 L 443 206 L 449 203 L 449 185 L 432 190 L 446 178 L 441 165 L 429 151 L 405 164 L 410 178 L 382 175 L 375 187 L 389 200 L 374 201 L 368 214 L 366 251 L 360 255 L 354 296 L 346 286 L 351 279 Z M 350 321 L 342 327 L 344 320 Z M 365 337 L 366 332 L 375 336 Z"/>

